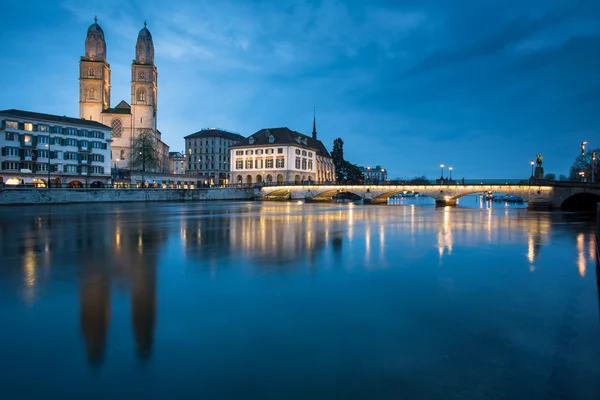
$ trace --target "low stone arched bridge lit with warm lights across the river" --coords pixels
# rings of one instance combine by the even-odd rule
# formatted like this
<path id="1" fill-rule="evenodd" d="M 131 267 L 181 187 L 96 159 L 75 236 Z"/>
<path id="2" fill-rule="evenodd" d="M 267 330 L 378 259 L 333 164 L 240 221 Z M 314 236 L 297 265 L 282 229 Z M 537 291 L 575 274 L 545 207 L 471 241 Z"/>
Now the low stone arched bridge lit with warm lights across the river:
<path id="1" fill-rule="evenodd" d="M 600 201 L 600 184 L 537 180 L 521 184 L 477 185 L 285 185 L 263 186 L 263 200 L 331 201 L 337 193 L 353 193 L 374 204 L 387 204 L 388 199 L 401 193 L 419 193 L 435 199 L 438 205 L 455 205 L 462 196 L 473 193 L 502 193 L 518 196 L 530 208 L 584 209 Z"/>

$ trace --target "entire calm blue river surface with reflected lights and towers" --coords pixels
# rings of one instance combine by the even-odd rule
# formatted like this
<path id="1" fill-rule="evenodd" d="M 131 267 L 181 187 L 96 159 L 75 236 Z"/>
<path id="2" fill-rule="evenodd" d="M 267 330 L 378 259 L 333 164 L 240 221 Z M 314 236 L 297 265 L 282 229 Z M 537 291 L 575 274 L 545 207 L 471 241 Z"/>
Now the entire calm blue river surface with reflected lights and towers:
<path id="1" fill-rule="evenodd" d="M 589 216 L 0 208 L 0 398 L 598 399 Z"/>

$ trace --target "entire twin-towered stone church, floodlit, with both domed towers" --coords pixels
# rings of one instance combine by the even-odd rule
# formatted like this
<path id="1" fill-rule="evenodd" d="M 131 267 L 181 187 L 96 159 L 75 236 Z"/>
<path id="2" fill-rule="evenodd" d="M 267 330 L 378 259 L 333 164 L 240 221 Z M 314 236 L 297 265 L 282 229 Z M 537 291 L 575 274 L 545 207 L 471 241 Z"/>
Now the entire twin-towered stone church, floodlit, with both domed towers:
<path id="1" fill-rule="evenodd" d="M 112 128 L 111 167 L 114 170 L 136 169 L 131 165 L 132 147 L 140 134 L 148 133 L 156 140 L 158 165 L 146 171 L 169 172 L 169 146 L 161 140 L 156 126 L 158 71 L 154 65 L 154 43 L 146 23 L 138 34 L 131 64 L 130 104 L 122 100 L 111 108 L 110 65 L 106 60 L 104 31 L 94 18 L 85 38 L 85 55 L 79 61 L 80 117 Z"/>

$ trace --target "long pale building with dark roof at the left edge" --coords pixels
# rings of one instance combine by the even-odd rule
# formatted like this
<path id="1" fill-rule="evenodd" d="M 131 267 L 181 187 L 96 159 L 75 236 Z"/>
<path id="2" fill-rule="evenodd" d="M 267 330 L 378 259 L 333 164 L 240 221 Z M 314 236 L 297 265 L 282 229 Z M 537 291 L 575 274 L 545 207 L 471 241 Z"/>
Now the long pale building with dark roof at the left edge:
<path id="1" fill-rule="evenodd" d="M 4 185 L 103 187 L 111 183 L 110 127 L 20 110 L 0 111 Z"/>

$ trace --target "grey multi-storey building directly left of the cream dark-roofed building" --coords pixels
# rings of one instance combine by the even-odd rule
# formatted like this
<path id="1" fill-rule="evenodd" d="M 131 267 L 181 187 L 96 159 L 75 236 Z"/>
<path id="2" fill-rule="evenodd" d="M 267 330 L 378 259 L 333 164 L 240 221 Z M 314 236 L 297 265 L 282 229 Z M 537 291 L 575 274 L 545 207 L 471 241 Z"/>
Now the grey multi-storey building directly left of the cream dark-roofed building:
<path id="1" fill-rule="evenodd" d="M 184 139 L 188 173 L 200 175 L 200 181 L 206 185 L 230 183 L 229 148 L 245 140 L 242 135 L 224 129 L 206 128 Z"/>

